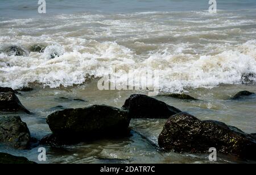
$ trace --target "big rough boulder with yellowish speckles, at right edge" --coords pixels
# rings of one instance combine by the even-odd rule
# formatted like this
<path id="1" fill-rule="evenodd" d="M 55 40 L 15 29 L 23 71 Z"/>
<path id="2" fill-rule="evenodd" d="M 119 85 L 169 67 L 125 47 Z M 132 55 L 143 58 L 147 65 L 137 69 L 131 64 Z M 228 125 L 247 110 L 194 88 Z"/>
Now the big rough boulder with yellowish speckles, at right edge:
<path id="1" fill-rule="evenodd" d="M 158 138 L 166 151 L 203 153 L 214 147 L 217 152 L 256 160 L 255 136 L 214 120 L 199 120 L 187 113 L 171 116 Z"/>

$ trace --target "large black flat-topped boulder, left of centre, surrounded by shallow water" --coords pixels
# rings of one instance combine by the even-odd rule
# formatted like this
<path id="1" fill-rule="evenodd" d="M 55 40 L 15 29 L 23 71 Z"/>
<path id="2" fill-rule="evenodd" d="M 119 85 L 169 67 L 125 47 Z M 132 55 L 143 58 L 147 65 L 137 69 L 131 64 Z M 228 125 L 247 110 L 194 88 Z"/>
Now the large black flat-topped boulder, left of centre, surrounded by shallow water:
<path id="1" fill-rule="evenodd" d="M 80 109 L 56 111 L 47 117 L 53 135 L 41 143 L 54 140 L 61 144 L 86 141 L 101 137 L 129 134 L 130 118 L 127 111 L 105 105 L 93 105 Z"/>

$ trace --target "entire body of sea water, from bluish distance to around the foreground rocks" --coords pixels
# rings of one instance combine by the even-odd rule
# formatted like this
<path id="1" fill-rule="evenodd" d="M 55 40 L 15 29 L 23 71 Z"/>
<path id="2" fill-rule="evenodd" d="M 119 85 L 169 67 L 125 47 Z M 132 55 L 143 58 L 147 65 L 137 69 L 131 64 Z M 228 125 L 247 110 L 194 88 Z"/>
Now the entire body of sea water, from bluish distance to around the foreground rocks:
<path id="1" fill-rule="evenodd" d="M 33 114 L 17 114 L 32 136 L 40 139 L 50 133 L 46 116 L 59 110 L 56 106 L 121 107 L 130 94 L 146 94 L 98 90 L 98 78 L 112 74 L 122 82 L 123 71 L 129 70 L 135 86 L 145 83 L 137 76 L 140 72 L 158 70 L 162 93 L 184 91 L 200 99 L 156 97 L 169 105 L 256 132 L 255 95 L 230 99 L 240 90 L 256 93 L 255 76 L 243 79 L 256 74 L 255 1 L 218 1 L 217 14 L 209 14 L 208 1 L 51 1 L 45 15 L 39 15 L 37 7 L 35 1 L 0 1 L 0 86 L 34 88 L 19 95 Z M 27 55 L 3 52 L 14 44 Z M 28 52 L 34 44 L 48 47 L 44 53 Z M 63 55 L 50 60 L 52 49 Z M 132 120 L 130 138 L 47 147 L 47 163 L 209 163 L 208 155 L 158 151 L 154 144 L 165 122 Z M 0 146 L 0 152 L 38 162 L 37 149 Z M 240 162 L 224 155 L 217 161 Z"/>

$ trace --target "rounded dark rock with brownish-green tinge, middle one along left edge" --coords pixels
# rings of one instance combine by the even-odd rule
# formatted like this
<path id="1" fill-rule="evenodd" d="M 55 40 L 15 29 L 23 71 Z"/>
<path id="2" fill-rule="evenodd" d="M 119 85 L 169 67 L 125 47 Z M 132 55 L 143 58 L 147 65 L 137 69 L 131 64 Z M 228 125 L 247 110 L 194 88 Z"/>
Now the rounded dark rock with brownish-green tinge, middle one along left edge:
<path id="1" fill-rule="evenodd" d="M 0 116 L 0 142 L 14 148 L 27 149 L 30 140 L 27 124 L 19 116 Z"/>

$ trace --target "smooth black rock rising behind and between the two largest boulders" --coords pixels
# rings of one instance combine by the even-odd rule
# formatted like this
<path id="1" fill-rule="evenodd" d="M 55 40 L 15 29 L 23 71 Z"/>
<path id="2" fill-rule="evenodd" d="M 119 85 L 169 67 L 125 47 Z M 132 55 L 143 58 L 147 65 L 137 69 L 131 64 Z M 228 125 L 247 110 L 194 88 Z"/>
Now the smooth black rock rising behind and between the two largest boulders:
<path id="1" fill-rule="evenodd" d="M 169 118 L 181 112 L 162 101 L 141 94 L 131 95 L 122 109 L 129 111 L 130 118 Z"/>

